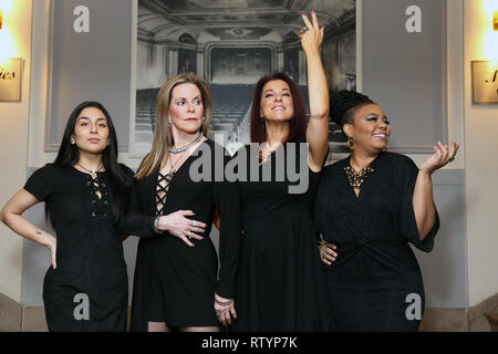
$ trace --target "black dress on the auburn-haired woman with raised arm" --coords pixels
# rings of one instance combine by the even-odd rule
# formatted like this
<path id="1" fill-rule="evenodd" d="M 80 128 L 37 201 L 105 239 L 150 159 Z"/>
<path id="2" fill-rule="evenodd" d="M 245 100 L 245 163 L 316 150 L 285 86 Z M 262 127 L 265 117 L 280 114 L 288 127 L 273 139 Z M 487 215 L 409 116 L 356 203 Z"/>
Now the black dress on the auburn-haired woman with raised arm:
<path id="1" fill-rule="evenodd" d="M 305 192 L 290 194 L 289 175 L 279 181 L 277 154 L 259 167 L 251 181 L 250 149 L 247 181 L 239 181 L 242 205 L 242 252 L 238 273 L 237 320 L 232 330 L 329 331 L 332 330 L 326 284 L 312 222 L 312 201 L 320 174 L 308 166 Z M 239 150 L 240 154 L 240 150 Z M 289 150 L 284 153 L 292 154 Z M 256 157 L 257 159 L 258 157 Z M 300 166 L 300 154 L 295 153 Z M 271 180 L 262 181 L 262 169 L 271 164 Z M 268 167 L 268 166 L 267 166 Z M 282 173 L 280 170 L 280 173 Z"/>

